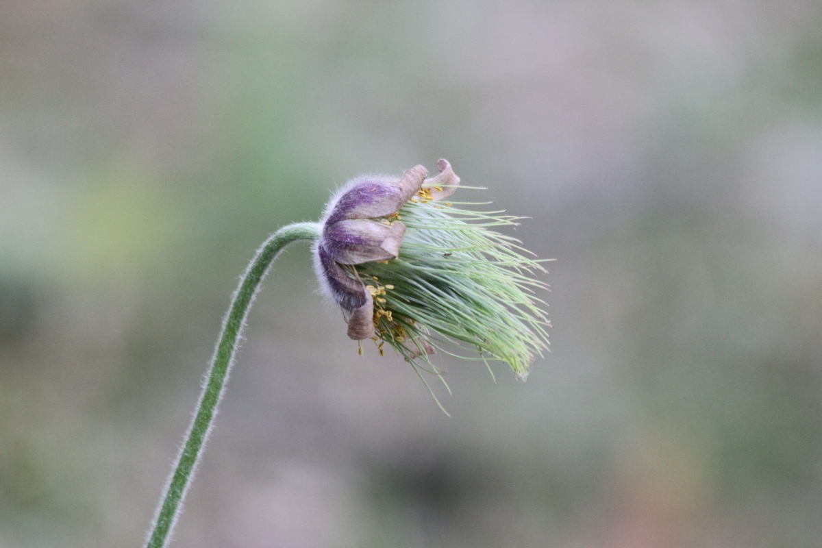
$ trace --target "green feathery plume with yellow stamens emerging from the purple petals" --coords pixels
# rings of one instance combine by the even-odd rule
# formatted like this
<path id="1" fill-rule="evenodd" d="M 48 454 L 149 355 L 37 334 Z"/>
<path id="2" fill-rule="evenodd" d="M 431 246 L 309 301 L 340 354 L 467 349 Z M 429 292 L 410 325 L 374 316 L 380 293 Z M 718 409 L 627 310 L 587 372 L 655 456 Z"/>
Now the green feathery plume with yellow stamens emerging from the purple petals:
<path id="1" fill-rule="evenodd" d="M 436 374 L 441 371 L 428 355 L 432 348 L 452 354 L 444 348 L 450 346 L 472 348 L 483 361 L 506 361 L 525 380 L 534 357 L 548 348 L 551 324 L 541 308 L 547 305 L 536 295 L 548 287 L 534 279 L 547 272 L 545 260 L 494 230 L 523 218 L 462 210 L 455 205 L 484 204 L 430 196 L 423 187 L 397 214 L 382 219 L 401 219 L 407 228 L 396 259 L 349 266 L 374 298 L 372 339 L 381 353 L 388 343 L 415 368 L 422 358 Z"/>

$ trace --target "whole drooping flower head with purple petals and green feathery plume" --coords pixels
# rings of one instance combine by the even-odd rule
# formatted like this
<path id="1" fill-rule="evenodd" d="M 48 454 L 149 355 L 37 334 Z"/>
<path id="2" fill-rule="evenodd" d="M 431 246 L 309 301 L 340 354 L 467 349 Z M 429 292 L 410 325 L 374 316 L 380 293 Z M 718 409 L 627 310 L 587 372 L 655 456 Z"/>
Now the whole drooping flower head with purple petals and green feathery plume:
<path id="1" fill-rule="evenodd" d="M 358 177 L 342 187 L 321 219 L 314 247 L 321 288 L 341 306 L 353 339 L 384 343 L 415 365 L 444 346 L 506 361 L 525 379 L 547 349 L 550 326 L 534 294 L 539 260 L 492 228 L 520 218 L 461 210 L 446 201 L 459 186 L 450 164 L 426 178 Z M 450 352 L 448 352 L 450 353 Z M 436 371 L 436 368 L 435 368 Z"/>

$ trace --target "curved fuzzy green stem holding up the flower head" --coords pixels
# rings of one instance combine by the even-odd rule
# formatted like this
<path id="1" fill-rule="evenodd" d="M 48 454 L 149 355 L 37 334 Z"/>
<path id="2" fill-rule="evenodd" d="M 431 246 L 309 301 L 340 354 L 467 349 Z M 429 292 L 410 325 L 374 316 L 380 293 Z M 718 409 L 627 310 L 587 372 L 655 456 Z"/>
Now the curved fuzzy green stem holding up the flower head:
<path id="1" fill-rule="evenodd" d="M 271 262 L 289 243 L 298 240 L 316 240 L 319 234 L 320 227 L 317 223 L 293 223 L 280 228 L 257 250 L 256 256 L 248 265 L 245 274 L 242 275 L 242 281 L 233 294 L 229 312 L 223 320 L 223 329 L 219 334 L 219 343 L 217 343 L 214 357 L 211 358 L 208 380 L 203 387 L 196 415 L 186 435 L 186 443 L 178 456 L 177 466 L 165 488 L 161 499 L 162 504 L 157 509 L 154 526 L 145 544 L 146 548 L 166 546 L 169 534 L 177 522 L 182 499 L 192 482 L 203 445 L 211 431 L 217 404 L 225 389 L 225 380 L 229 376 L 237 341 L 245 325 L 248 310 L 260 288 L 260 283 L 266 277 Z"/>

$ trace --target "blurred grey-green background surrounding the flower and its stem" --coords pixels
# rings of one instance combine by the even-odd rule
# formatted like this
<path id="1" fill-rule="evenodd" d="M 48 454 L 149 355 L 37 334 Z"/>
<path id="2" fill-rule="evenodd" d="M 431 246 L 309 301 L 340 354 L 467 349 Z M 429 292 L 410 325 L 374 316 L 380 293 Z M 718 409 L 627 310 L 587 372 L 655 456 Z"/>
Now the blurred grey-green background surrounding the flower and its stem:
<path id="1" fill-rule="evenodd" d="M 0 2 L 0 547 L 140 546 L 238 274 L 450 159 L 552 353 L 411 368 L 275 265 L 173 546 L 820 546 L 822 3 Z"/>

